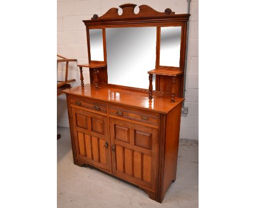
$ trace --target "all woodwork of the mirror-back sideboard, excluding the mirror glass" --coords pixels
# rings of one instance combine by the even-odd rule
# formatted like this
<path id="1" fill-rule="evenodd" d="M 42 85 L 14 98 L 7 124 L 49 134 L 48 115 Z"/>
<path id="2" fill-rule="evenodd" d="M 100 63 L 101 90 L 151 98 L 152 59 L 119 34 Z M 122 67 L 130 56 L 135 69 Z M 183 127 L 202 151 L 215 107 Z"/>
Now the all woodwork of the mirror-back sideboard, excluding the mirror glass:
<path id="1" fill-rule="evenodd" d="M 83 21 L 88 38 L 89 64 L 78 65 L 81 86 L 66 89 L 73 160 L 129 181 L 161 203 L 176 180 L 183 71 L 189 14 L 159 13 L 147 5 L 133 12 L 123 4 L 123 14 L 112 8 L 101 17 Z M 149 89 L 108 83 L 106 28 L 156 27 L 156 65 L 148 69 Z M 160 29 L 180 26 L 180 65 L 160 66 Z M 90 29 L 102 29 L 104 61 L 90 58 Z M 136 64 L 136 63 L 135 63 Z M 90 70 L 90 84 L 83 82 L 83 67 Z M 120 69 L 121 70 L 121 69 Z M 152 90 L 152 76 L 156 75 Z M 134 74 L 136 76 L 136 74 Z M 151 79 L 151 80 L 150 80 Z"/>

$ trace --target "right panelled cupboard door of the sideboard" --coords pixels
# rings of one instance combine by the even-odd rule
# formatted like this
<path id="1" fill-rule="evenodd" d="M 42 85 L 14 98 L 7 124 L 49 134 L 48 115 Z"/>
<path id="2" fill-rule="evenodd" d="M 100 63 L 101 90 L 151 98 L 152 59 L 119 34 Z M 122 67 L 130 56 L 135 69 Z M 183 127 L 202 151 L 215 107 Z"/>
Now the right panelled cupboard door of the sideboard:
<path id="1" fill-rule="evenodd" d="M 112 172 L 155 191 L 158 130 L 110 118 Z"/>

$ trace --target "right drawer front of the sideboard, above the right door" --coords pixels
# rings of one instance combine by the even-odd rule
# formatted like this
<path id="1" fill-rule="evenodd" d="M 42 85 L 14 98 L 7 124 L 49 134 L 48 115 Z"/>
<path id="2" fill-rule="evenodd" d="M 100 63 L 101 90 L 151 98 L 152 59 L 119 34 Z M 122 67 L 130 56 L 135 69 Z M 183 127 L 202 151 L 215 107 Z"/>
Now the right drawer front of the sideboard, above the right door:
<path id="1" fill-rule="evenodd" d="M 109 115 L 140 121 L 142 123 L 159 125 L 159 114 L 139 111 L 138 109 L 109 106 Z"/>

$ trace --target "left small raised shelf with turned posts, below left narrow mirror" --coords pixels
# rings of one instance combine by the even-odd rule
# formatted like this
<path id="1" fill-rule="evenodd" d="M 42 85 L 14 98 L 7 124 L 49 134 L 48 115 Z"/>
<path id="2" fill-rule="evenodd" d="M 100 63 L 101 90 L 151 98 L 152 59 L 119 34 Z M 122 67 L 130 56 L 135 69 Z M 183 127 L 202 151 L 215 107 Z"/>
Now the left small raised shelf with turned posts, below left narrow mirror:
<path id="1" fill-rule="evenodd" d="M 98 89 L 98 69 L 104 68 L 107 66 L 104 62 L 91 62 L 88 64 L 78 64 L 77 65 L 80 69 L 80 81 L 82 87 L 84 87 L 84 76 L 83 76 L 83 67 L 91 68 L 94 70 L 94 83 L 95 83 L 95 89 Z"/>

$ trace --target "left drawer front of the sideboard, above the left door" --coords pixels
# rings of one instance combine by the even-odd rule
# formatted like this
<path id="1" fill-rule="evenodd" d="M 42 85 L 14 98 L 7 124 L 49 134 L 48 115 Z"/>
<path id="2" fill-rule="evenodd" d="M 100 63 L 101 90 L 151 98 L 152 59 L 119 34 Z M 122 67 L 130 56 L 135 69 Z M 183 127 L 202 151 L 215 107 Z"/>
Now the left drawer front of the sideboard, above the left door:
<path id="1" fill-rule="evenodd" d="M 95 112 L 101 112 L 107 114 L 107 105 L 97 101 L 91 101 L 86 99 L 80 99 L 77 97 L 70 97 L 69 99 L 71 105 L 83 107 L 86 109 L 94 110 Z"/>

